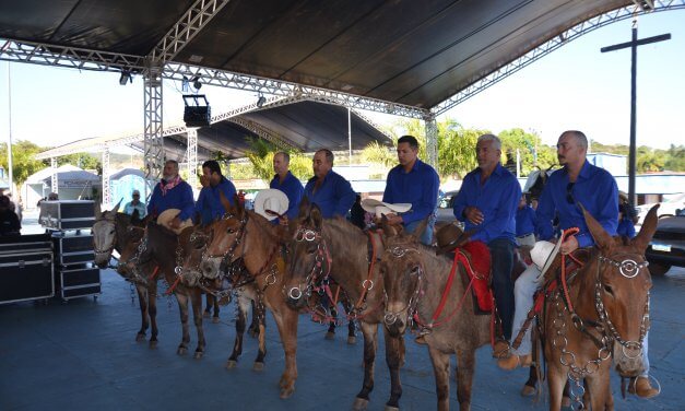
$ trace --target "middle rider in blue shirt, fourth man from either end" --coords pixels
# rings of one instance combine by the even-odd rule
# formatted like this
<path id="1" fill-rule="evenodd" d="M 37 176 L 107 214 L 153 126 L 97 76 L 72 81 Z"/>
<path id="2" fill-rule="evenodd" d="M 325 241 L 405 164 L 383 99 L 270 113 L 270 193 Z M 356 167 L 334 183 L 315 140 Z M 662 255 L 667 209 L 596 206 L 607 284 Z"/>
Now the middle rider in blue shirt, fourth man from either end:
<path id="1" fill-rule="evenodd" d="M 314 177 L 305 186 L 305 196 L 321 209 L 324 219 L 345 218 L 356 198 L 350 181 L 333 172 L 333 160 L 330 150 L 317 151 L 311 162 Z"/>

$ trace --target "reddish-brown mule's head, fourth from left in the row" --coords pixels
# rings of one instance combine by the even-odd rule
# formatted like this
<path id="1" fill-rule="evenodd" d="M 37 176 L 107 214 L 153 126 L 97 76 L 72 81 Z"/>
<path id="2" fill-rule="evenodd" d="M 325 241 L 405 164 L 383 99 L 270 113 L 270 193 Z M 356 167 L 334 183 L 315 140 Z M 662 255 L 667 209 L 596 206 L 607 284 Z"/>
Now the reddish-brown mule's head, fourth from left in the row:
<path id="1" fill-rule="evenodd" d="M 237 251 L 247 224 L 247 211 L 237 198 L 231 204 L 224 193 L 220 191 L 221 202 L 226 213 L 215 221 L 209 230 L 209 238 L 204 256 L 200 262 L 200 272 L 205 279 L 216 279 L 220 275 L 221 265 L 228 254 Z M 233 261 L 225 261 L 233 262 Z"/>

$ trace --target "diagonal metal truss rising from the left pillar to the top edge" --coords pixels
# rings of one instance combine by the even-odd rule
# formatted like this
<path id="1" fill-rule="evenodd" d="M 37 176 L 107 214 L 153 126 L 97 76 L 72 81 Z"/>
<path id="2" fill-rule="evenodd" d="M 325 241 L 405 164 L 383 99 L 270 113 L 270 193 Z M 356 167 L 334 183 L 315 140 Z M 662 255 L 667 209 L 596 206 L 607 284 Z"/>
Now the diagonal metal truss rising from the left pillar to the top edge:
<path id="1" fill-rule="evenodd" d="M 172 61 L 229 0 L 197 0 L 155 46 L 150 57 L 162 63 Z"/>

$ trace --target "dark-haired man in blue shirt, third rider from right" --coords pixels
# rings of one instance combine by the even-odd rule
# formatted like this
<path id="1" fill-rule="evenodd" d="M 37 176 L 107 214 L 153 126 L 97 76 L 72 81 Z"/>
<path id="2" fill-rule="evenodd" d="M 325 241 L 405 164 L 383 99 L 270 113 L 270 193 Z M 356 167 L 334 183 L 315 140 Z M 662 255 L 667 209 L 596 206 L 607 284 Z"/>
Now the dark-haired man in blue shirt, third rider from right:
<path id="1" fill-rule="evenodd" d="M 406 233 L 413 233 L 427 218 L 428 225 L 420 239 L 429 246 L 433 243 L 440 179 L 432 166 L 418 160 L 418 141 L 413 136 L 402 136 L 398 140 L 398 161 L 400 164 L 388 173 L 382 201 L 411 203 L 412 209 L 402 214 L 387 214 L 386 218 L 391 224 L 403 224 Z"/>

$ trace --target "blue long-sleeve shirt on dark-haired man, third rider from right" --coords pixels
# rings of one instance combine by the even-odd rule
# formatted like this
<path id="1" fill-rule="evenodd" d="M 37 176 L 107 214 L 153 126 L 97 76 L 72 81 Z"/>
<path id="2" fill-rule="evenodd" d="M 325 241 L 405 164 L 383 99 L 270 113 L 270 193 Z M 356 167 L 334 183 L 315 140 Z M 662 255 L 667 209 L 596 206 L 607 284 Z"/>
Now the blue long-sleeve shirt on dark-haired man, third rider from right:
<path id="1" fill-rule="evenodd" d="M 409 173 L 402 165 L 392 167 L 388 173 L 383 201 L 390 203 L 411 202 L 412 210 L 402 214 L 404 224 L 425 219 L 435 212 L 438 204 L 440 179 L 435 169 L 416 158 Z"/>

